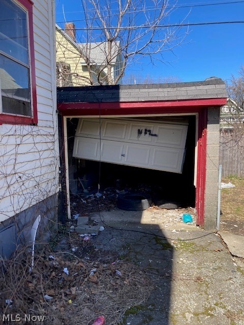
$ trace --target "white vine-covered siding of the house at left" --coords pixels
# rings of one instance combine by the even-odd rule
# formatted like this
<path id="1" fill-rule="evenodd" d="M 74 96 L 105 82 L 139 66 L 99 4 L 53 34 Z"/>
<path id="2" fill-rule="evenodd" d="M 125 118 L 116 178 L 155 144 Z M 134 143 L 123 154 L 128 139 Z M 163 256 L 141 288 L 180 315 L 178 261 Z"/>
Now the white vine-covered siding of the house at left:
<path id="1" fill-rule="evenodd" d="M 0 125 L 0 222 L 58 191 L 54 10 L 34 0 L 38 125 Z"/>

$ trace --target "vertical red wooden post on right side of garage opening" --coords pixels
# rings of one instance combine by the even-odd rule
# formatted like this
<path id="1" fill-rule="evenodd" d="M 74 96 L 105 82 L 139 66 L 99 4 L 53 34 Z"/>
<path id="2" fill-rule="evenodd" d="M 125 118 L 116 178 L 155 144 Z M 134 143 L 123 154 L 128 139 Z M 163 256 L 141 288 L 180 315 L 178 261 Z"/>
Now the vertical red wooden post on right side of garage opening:
<path id="1" fill-rule="evenodd" d="M 198 115 L 198 146 L 197 146 L 197 181 L 196 210 L 197 224 L 204 226 L 204 203 L 206 186 L 206 152 L 207 152 L 207 108 Z"/>

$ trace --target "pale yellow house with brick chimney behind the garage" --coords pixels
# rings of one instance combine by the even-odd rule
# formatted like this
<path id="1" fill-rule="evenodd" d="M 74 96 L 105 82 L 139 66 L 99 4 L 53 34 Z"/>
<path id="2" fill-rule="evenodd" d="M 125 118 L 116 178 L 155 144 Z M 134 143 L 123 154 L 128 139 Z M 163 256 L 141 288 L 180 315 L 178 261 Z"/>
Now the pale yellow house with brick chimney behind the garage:
<path id="1" fill-rule="evenodd" d="M 107 49 L 106 42 L 78 43 L 73 23 L 67 23 L 65 30 L 56 25 L 57 86 L 108 84 Z M 114 82 L 122 64 L 118 42 L 113 43 L 110 63 Z"/>

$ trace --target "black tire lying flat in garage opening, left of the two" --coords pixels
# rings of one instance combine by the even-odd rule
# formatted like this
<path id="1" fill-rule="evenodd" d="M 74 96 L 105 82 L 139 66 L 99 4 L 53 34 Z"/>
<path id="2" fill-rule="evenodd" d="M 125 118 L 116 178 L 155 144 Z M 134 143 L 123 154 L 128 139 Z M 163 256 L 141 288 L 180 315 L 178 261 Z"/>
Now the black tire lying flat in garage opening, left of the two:
<path id="1" fill-rule="evenodd" d="M 127 211 L 146 210 L 152 204 L 151 197 L 147 193 L 124 193 L 118 196 L 117 207 Z"/>

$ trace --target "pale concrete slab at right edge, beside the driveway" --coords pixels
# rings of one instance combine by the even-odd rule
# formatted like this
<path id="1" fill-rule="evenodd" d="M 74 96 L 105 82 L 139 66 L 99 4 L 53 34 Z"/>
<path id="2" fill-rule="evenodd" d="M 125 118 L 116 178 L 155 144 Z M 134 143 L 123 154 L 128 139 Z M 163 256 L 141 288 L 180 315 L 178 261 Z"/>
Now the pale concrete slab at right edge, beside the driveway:
<path id="1" fill-rule="evenodd" d="M 225 232 L 219 232 L 219 235 L 228 246 L 228 249 L 232 255 L 244 257 L 244 236 Z"/>

